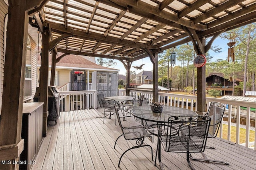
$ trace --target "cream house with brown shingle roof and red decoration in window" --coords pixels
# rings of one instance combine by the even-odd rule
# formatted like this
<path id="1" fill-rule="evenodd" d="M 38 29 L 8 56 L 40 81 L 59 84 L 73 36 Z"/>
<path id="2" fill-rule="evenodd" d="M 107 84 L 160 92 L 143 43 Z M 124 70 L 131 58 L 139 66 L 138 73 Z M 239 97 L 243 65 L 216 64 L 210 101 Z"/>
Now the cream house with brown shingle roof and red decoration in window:
<path id="1" fill-rule="evenodd" d="M 59 54 L 56 58 L 61 56 Z M 39 60 L 40 61 L 40 60 Z M 49 83 L 51 74 L 51 59 L 49 60 Z M 95 63 L 94 57 L 67 55 L 56 63 L 54 86 L 61 88 L 68 86 L 68 90 L 91 90 L 92 72 L 114 72 L 117 69 L 100 66 Z"/>

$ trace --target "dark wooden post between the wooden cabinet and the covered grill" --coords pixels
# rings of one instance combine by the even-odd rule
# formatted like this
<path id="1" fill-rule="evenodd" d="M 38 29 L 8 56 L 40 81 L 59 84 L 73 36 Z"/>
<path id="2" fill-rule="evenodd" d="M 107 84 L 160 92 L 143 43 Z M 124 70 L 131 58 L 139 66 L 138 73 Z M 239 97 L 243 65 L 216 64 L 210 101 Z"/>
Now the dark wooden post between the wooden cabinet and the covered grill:
<path id="1" fill-rule="evenodd" d="M 44 27 L 42 33 L 42 56 L 40 68 L 40 102 L 44 102 L 43 106 L 43 136 L 47 133 L 47 116 L 48 116 L 48 72 L 49 72 L 49 40 L 50 35 L 47 27 Z"/>

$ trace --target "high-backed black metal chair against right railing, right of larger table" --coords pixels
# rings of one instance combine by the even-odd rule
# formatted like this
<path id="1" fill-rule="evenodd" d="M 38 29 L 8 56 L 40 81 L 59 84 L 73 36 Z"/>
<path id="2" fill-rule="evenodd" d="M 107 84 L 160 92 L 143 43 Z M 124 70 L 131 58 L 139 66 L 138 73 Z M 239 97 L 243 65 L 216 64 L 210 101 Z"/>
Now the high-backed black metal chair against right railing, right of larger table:
<path id="1" fill-rule="evenodd" d="M 205 114 L 205 115 L 211 117 L 208 138 L 215 138 L 217 136 L 218 131 L 220 129 L 220 123 L 221 123 L 222 117 L 224 115 L 224 111 L 225 111 L 224 104 L 219 103 L 219 102 L 211 102 L 210 103 L 210 107 L 209 107 L 207 113 Z M 206 148 L 215 149 L 214 147 L 208 147 L 208 146 L 206 146 Z M 193 158 L 192 156 L 190 156 L 190 158 L 192 160 L 202 160 L 202 161 L 206 161 L 206 162 L 218 162 L 218 163 L 229 165 L 229 163 L 227 161 L 212 160 L 212 159 L 208 159 L 206 154 L 202 153 L 202 155 L 204 156 L 204 158 Z"/>

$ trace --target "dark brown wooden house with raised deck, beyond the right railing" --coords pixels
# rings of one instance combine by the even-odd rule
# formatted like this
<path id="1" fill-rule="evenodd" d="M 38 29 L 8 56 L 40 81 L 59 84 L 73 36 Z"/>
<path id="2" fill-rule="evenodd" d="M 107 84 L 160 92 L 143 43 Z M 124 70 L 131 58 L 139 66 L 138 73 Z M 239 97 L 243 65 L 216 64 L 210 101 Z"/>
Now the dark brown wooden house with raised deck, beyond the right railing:
<path id="1" fill-rule="evenodd" d="M 243 80 L 235 78 L 234 85 L 239 85 Z M 211 73 L 206 77 L 206 90 L 222 90 L 222 95 L 232 95 L 233 81 L 224 78 L 223 73 Z"/>

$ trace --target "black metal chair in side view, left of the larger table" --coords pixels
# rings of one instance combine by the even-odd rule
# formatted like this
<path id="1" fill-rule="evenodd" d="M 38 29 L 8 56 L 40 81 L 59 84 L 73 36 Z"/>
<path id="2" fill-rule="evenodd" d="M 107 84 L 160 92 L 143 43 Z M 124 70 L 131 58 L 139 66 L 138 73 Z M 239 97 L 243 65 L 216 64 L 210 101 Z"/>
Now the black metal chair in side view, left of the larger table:
<path id="1" fill-rule="evenodd" d="M 114 108 L 115 108 L 115 111 L 116 111 L 116 116 L 117 116 L 117 119 L 118 119 L 118 123 L 120 125 L 120 128 L 122 130 L 122 135 L 120 135 L 117 139 L 116 139 L 116 142 L 118 141 L 118 139 L 121 137 L 121 136 L 124 136 L 124 139 L 126 140 L 136 140 L 136 146 L 133 146 L 129 149 L 127 149 L 126 151 L 124 151 L 124 153 L 121 155 L 120 159 L 119 159 L 119 162 L 118 162 L 118 167 L 120 166 L 120 162 L 121 162 L 121 159 L 122 157 L 124 156 L 124 154 L 128 151 L 128 150 L 131 150 L 131 149 L 136 149 L 136 148 L 140 148 L 140 147 L 150 147 L 151 149 L 151 154 L 152 154 L 152 160 L 153 160 L 153 149 L 150 145 L 145 145 L 144 144 L 144 138 L 145 137 L 148 137 L 150 139 L 150 141 L 153 143 L 153 136 L 152 134 L 148 133 L 143 126 L 130 126 L 130 127 L 123 127 L 122 126 L 122 121 L 120 118 L 122 117 L 133 117 L 132 115 L 128 115 L 128 116 L 120 116 L 119 115 L 119 112 L 118 112 L 118 109 L 117 109 L 117 106 L 116 104 L 114 104 Z M 114 149 L 116 147 L 116 142 L 115 142 L 115 145 L 114 145 Z"/>

